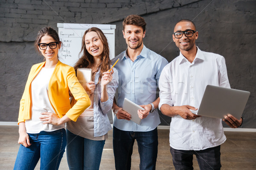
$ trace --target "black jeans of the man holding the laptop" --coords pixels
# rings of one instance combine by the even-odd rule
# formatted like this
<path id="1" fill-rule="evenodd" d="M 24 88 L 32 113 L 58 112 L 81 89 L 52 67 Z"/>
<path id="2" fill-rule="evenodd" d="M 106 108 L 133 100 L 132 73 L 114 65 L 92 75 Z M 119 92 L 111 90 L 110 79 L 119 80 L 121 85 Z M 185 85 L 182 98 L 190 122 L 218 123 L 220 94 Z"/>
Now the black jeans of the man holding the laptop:
<path id="1" fill-rule="evenodd" d="M 221 145 L 204 150 L 177 150 L 170 148 L 175 170 L 193 170 L 195 154 L 200 170 L 221 169 Z"/>

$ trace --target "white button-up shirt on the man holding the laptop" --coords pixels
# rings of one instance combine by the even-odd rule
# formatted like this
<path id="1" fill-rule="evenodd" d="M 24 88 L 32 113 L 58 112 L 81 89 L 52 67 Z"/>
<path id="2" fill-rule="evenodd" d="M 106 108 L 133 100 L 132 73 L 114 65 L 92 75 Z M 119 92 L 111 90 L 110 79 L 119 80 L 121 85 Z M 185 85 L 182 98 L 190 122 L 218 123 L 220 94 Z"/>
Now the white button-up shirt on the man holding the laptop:
<path id="1" fill-rule="evenodd" d="M 163 69 L 159 79 L 160 103 L 171 106 L 191 105 L 198 108 L 207 85 L 230 88 L 225 59 L 201 51 L 190 63 L 181 53 Z M 226 140 L 221 119 L 201 116 L 186 120 L 173 116 L 170 146 L 178 150 L 204 150 Z"/>

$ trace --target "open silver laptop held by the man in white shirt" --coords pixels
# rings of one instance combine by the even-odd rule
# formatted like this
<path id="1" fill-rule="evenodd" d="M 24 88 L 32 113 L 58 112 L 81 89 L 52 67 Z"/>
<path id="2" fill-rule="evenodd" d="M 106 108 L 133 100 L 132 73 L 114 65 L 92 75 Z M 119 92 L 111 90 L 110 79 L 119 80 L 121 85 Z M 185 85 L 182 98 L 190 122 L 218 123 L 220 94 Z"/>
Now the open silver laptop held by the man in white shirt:
<path id="1" fill-rule="evenodd" d="M 231 114 L 240 119 L 249 96 L 249 91 L 207 85 L 200 107 L 197 111 L 190 111 L 197 115 L 220 119 L 225 119 L 227 114 Z"/>

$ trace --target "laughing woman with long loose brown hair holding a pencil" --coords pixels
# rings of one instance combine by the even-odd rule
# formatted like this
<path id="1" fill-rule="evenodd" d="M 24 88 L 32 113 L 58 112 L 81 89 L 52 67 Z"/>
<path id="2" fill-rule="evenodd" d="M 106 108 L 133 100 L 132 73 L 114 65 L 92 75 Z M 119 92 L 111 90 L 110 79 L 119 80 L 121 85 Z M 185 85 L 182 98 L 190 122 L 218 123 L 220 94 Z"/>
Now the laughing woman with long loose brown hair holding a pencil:
<path id="1" fill-rule="evenodd" d="M 105 139 L 111 130 L 107 113 L 113 105 L 118 73 L 111 68 L 108 41 L 99 28 L 84 32 L 80 54 L 74 68 L 76 71 L 92 69 L 92 81 L 83 85 L 91 105 L 76 122 L 67 122 L 67 162 L 70 170 L 98 170 Z"/>

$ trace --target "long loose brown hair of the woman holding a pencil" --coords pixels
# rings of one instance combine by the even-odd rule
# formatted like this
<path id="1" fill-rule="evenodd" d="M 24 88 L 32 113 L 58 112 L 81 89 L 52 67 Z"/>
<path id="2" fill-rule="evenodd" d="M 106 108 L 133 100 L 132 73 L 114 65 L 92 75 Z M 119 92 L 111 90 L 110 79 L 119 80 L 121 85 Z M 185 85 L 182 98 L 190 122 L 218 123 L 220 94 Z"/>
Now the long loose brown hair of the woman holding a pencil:
<path id="1" fill-rule="evenodd" d="M 99 39 L 102 41 L 103 43 L 103 51 L 101 54 L 101 64 L 99 65 L 99 67 L 97 68 L 97 71 L 100 69 L 100 74 L 99 74 L 99 81 L 101 81 L 101 78 L 103 76 L 103 72 L 108 71 L 110 69 L 110 65 L 111 65 L 111 61 L 109 58 L 109 47 L 108 47 L 108 40 L 105 37 L 104 33 L 101 31 L 101 29 L 96 28 L 96 27 L 92 27 L 87 29 L 84 32 L 83 35 L 83 39 L 82 39 L 82 48 L 81 51 L 79 53 L 79 56 L 82 54 L 81 58 L 78 60 L 78 62 L 76 62 L 76 65 L 74 66 L 75 71 L 77 70 L 77 68 L 92 68 L 94 63 L 94 59 L 93 56 L 87 51 L 86 47 L 85 47 L 85 35 L 88 32 L 94 31 L 98 34 Z M 97 72 L 96 71 L 96 72 Z M 95 74 L 96 72 L 94 72 L 93 74 Z"/>

